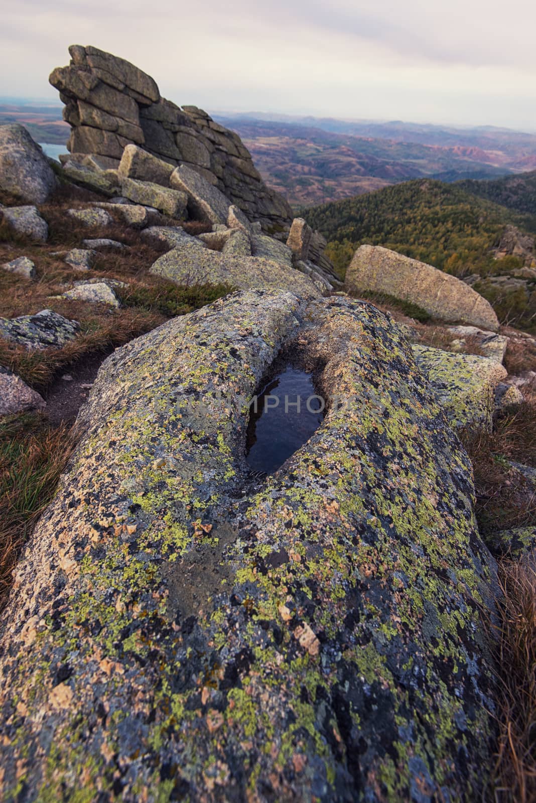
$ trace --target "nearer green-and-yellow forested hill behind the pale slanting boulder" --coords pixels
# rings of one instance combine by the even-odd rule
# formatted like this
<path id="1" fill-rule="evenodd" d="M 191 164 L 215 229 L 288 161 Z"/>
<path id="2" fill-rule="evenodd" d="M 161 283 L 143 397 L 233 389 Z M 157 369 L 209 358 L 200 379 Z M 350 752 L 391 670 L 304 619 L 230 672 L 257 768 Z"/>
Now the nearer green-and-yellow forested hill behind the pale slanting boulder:
<path id="1" fill-rule="evenodd" d="M 327 238 L 331 259 L 342 272 L 355 249 L 371 243 L 453 275 L 486 275 L 492 268 L 497 271 L 506 267 L 490 254 L 506 224 L 536 231 L 536 214 L 509 210 L 477 198 L 459 185 L 430 179 L 405 181 L 367 195 L 323 204 L 304 210 L 303 215 Z"/>

